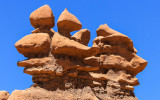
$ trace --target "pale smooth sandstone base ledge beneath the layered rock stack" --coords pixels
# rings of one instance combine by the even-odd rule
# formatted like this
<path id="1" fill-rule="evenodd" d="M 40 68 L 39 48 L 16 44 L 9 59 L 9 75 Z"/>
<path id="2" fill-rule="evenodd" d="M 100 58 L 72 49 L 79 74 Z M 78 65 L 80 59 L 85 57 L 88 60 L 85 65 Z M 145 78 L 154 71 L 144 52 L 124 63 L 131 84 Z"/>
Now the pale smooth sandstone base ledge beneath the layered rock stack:
<path id="1" fill-rule="evenodd" d="M 99 100 L 90 87 L 83 89 L 68 89 L 66 91 L 47 91 L 40 87 L 26 90 L 15 90 L 8 100 Z"/>

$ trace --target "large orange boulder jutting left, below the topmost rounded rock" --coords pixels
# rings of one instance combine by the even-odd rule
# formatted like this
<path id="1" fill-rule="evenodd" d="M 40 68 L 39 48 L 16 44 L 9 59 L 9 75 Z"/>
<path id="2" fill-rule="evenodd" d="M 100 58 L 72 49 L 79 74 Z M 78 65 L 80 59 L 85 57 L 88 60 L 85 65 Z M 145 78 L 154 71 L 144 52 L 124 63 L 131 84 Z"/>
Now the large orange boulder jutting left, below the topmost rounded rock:
<path id="1" fill-rule="evenodd" d="M 26 35 L 15 43 L 18 52 L 28 57 L 32 54 L 48 54 L 50 37 L 47 33 Z"/>

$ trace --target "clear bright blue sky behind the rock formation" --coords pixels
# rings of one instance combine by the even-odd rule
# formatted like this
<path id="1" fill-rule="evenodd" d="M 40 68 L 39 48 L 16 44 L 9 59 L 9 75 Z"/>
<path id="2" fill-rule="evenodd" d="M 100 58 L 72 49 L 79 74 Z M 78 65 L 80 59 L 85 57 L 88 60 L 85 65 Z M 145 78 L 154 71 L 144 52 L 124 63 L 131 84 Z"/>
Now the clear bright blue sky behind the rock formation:
<path id="1" fill-rule="evenodd" d="M 0 0 L 0 90 L 10 93 L 32 85 L 30 75 L 23 73 L 17 61 L 25 57 L 14 47 L 16 41 L 31 34 L 30 13 L 48 4 L 55 16 L 67 8 L 91 32 L 92 45 L 96 29 L 107 23 L 133 40 L 137 55 L 148 61 L 137 75 L 135 87 L 139 100 L 160 100 L 160 0 Z M 57 31 L 57 26 L 53 28 Z"/>

